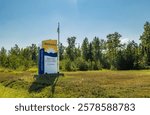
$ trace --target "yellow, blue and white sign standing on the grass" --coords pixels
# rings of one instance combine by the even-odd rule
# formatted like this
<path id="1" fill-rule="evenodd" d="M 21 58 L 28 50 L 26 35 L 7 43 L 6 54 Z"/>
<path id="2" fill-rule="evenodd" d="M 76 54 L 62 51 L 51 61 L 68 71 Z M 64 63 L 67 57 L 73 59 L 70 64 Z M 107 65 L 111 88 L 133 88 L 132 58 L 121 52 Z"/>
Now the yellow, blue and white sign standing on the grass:
<path id="1" fill-rule="evenodd" d="M 57 40 L 42 41 L 39 51 L 39 74 L 52 74 L 58 72 Z"/>

